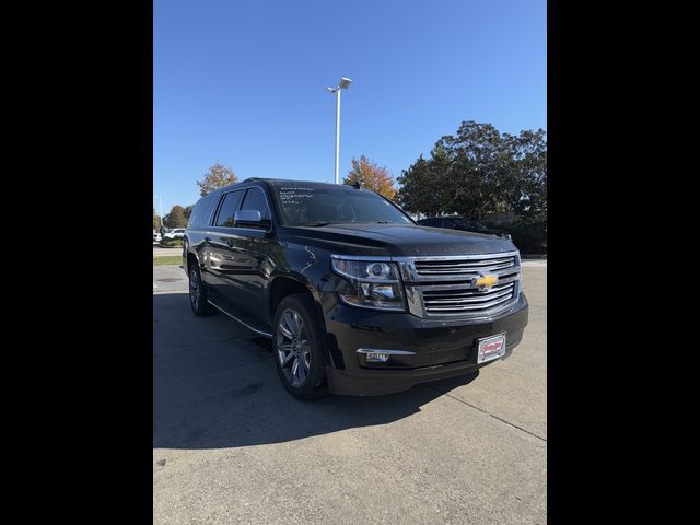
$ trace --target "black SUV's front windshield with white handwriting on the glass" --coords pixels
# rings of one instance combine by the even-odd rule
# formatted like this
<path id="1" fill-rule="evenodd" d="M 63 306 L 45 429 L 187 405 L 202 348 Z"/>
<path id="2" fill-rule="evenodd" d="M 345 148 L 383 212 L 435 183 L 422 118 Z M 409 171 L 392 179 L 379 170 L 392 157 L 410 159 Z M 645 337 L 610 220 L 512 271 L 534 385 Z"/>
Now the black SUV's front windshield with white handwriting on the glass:
<path id="1" fill-rule="evenodd" d="M 351 186 L 278 183 L 273 186 L 280 219 L 287 226 L 336 222 L 415 224 L 388 200 Z"/>

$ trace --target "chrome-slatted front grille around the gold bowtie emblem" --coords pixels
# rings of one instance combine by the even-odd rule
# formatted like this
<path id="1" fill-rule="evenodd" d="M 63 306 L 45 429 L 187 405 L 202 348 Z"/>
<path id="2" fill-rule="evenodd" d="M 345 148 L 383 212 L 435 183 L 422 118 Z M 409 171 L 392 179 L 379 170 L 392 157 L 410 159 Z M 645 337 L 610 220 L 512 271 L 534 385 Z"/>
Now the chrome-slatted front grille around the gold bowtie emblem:
<path id="1" fill-rule="evenodd" d="M 520 294 L 520 255 L 489 254 L 482 256 L 416 258 L 412 285 L 420 291 L 423 312 L 428 317 L 482 317 L 510 307 Z M 492 273 L 499 282 L 489 290 L 479 290 L 479 275 Z"/>

